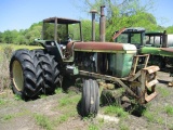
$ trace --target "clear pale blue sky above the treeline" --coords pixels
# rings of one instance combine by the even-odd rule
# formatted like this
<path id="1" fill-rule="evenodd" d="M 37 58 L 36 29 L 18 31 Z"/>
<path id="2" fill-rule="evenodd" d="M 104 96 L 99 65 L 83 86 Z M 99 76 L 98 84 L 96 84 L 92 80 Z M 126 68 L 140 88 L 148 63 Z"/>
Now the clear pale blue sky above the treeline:
<path id="1" fill-rule="evenodd" d="M 144 0 L 145 1 L 145 0 Z M 78 5 L 82 0 L 0 0 L 0 31 L 27 29 L 48 17 L 90 20 Z M 173 25 L 173 0 L 155 0 L 150 11 L 159 25 Z"/>

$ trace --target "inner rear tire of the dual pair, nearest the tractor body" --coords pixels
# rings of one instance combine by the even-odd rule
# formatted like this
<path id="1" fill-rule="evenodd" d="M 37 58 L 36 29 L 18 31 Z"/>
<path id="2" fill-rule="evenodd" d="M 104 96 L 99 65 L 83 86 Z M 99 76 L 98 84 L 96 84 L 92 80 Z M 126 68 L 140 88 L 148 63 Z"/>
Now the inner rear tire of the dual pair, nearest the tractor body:
<path id="1" fill-rule="evenodd" d="M 54 56 L 44 54 L 43 52 L 37 53 L 41 62 L 41 69 L 43 72 L 43 93 L 53 94 L 59 82 L 59 70 Z"/>

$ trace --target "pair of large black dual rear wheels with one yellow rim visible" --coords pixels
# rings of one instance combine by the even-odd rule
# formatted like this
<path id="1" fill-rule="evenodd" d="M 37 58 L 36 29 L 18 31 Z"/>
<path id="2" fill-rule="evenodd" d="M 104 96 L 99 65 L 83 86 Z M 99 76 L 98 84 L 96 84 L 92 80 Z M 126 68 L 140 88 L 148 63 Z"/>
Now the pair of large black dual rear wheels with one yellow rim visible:
<path id="1" fill-rule="evenodd" d="M 10 62 L 12 90 L 23 99 L 53 93 L 58 82 L 57 63 L 54 56 L 42 50 L 17 50 Z"/>

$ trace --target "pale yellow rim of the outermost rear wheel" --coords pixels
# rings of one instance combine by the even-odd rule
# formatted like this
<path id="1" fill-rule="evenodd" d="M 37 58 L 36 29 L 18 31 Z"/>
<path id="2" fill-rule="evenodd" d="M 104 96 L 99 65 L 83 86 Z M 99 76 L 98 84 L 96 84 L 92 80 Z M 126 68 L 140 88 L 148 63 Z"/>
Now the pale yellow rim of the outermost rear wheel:
<path id="1" fill-rule="evenodd" d="M 23 90 L 24 87 L 24 76 L 23 69 L 18 61 L 13 62 L 13 83 L 18 91 Z"/>

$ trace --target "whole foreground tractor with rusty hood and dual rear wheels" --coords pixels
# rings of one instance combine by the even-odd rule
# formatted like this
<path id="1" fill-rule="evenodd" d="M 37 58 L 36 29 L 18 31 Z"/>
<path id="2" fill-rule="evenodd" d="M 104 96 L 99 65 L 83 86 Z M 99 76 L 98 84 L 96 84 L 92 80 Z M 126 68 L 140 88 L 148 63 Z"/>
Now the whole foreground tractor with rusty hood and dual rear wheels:
<path id="1" fill-rule="evenodd" d="M 121 104 L 131 103 L 133 99 L 139 104 L 152 100 L 157 95 L 155 87 L 159 67 L 147 67 L 148 55 L 136 55 L 134 44 L 104 41 L 103 8 L 101 41 L 84 42 L 80 21 L 43 20 L 42 38 L 35 40 L 43 49 L 17 50 L 12 55 L 10 76 L 13 92 L 23 99 L 32 99 L 40 93 L 51 94 L 57 84 L 62 84 L 63 78 L 70 75 L 82 81 L 82 116 L 97 114 L 103 93 L 118 98 Z M 139 57 L 145 57 L 146 62 L 137 70 Z"/>

